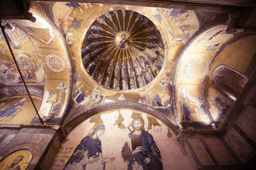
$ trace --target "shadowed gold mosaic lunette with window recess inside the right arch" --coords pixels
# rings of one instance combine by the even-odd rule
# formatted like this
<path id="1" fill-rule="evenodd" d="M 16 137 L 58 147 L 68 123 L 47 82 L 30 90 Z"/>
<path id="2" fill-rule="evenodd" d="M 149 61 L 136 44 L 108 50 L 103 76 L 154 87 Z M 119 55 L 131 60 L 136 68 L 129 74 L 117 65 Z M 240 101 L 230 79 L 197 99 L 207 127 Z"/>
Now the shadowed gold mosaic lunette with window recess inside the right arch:
<path id="1" fill-rule="evenodd" d="M 204 80 L 206 83 L 203 84 L 203 89 L 206 89 L 206 106 L 218 127 L 221 120 L 232 114 L 231 108 L 239 101 L 241 92 L 252 76 L 255 68 L 251 67 L 255 65 L 255 45 L 254 34 L 237 35 L 220 47 L 209 63 L 208 77 L 211 79 Z M 219 81 L 217 86 L 216 81 Z"/>

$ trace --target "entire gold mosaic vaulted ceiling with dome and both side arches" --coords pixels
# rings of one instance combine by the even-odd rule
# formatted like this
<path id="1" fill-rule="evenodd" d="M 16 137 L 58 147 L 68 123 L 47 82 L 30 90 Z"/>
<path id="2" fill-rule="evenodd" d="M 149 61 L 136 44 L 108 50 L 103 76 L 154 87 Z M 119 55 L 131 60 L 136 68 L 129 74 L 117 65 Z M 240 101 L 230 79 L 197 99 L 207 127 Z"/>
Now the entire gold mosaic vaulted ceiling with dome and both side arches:
<path id="1" fill-rule="evenodd" d="M 134 107 L 177 129 L 216 130 L 250 78 L 256 35 L 227 30 L 228 13 L 51 1 L 29 11 L 35 22 L 1 24 L 45 123 L 72 129 L 96 111 Z M 29 108 L 5 104 L 26 91 L 3 33 L 0 64 L 0 112 L 15 118 Z"/>

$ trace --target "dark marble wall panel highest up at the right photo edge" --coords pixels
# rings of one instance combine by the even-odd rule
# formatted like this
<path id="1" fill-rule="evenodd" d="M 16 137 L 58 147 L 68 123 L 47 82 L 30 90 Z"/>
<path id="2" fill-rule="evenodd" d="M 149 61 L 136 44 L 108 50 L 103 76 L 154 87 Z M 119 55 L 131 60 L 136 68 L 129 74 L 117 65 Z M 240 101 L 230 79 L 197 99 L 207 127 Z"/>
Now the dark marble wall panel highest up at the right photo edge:
<path id="1" fill-rule="evenodd" d="M 236 123 L 253 142 L 256 142 L 256 109 L 254 107 L 247 106 Z"/>

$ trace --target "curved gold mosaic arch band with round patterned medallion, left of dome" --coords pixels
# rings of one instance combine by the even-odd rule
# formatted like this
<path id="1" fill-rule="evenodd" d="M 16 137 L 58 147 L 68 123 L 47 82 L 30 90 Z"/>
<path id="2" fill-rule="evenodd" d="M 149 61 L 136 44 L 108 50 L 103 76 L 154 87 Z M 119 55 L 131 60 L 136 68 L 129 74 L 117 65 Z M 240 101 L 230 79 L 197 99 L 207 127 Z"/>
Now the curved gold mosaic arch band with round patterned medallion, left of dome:
<path id="1" fill-rule="evenodd" d="M 53 118 L 62 118 L 66 111 L 70 98 L 72 74 L 70 55 L 65 38 L 50 18 L 33 8 L 30 12 L 33 13 L 36 22 L 23 20 L 12 20 L 12 22 L 21 28 L 22 33 L 29 38 L 28 40 L 33 41 L 36 52 L 38 52 L 38 55 L 34 56 L 33 51 L 28 51 L 32 60 L 41 62 L 44 92 L 38 113 L 47 122 Z M 24 40 L 23 43 L 28 43 L 26 41 Z M 18 53 L 16 58 L 21 54 Z"/>

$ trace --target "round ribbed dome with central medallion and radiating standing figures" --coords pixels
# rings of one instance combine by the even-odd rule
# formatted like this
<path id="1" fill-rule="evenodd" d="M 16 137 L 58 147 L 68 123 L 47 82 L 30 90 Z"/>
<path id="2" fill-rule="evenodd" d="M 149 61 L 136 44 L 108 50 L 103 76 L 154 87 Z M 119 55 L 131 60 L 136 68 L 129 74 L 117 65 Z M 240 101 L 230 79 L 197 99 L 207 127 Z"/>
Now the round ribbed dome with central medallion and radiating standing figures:
<path id="1" fill-rule="evenodd" d="M 96 19 L 82 43 L 82 64 L 90 76 L 115 90 L 139 89 L 159 74 L 164 42 L 149 18 L 128 10 Z"/>

